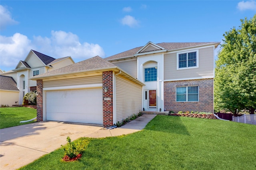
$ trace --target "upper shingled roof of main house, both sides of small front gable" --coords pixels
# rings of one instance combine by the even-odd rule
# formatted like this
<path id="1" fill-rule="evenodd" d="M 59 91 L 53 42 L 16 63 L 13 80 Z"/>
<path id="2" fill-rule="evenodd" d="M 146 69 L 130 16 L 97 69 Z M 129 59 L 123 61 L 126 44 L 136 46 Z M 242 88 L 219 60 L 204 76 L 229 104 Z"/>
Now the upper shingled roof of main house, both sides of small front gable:
<path id="1" fill-rule="evenodd" d="M 179 43 L 156 43 L 156 45 L 159 45 L 160 47 L 163 47 L 166 50 L 176 50 L 176 49 L 182 49 L 187 47 L 196 47 L 200 45 L 213 45 L 213 44 L 219 44 L 220 42 L 179 42 Z M 113 59 L 120 59 L 120 58 L 126 58 L 126 57 L 133 57 L 134 54 L 136 54 L 141 48 L 136 47 L 133 49 L 130 49 L 128 51 L 124 51 L 122 53 L 118 53 L 116 55 L 112 55 L 110 57 L 106 57 L 105 59 L 107 61 L 113 60 Z"/>

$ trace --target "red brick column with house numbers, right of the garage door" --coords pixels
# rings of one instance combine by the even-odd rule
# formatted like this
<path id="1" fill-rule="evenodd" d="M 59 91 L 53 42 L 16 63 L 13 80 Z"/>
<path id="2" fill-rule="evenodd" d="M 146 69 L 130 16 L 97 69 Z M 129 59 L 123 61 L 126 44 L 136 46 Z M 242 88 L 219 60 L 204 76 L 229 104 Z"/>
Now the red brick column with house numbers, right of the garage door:
<path id="1" fill-rule="evenodd" d="M 108 87 L 108 92 L 105 92 Z M 103 93 L 103 126 L 113 126 L 113 71 L 102 73 L 102 93 Z"/>

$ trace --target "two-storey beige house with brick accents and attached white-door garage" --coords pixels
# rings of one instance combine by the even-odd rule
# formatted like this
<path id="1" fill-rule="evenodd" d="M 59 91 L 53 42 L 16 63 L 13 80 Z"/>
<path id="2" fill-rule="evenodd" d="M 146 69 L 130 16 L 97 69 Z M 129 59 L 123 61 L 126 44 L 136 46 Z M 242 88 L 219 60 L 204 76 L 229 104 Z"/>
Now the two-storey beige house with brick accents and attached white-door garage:
<path id="1" fill-rule="evenodd" d="M 152 43 L 37 75 L 37 120 L 104 127 L 140 111 L 213 112 L 220 42 Z"/>

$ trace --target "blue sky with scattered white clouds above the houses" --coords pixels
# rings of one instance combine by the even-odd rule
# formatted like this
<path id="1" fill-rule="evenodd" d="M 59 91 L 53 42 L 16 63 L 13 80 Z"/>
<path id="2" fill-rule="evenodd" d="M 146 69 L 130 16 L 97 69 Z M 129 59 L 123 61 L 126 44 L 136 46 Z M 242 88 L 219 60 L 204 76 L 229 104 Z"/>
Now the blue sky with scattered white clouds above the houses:
<path id="1" fill-rule="evenodd" d="M 256 0 L 0 1 L 0 68 L 15 69 L 30 49 L 75 62 L 162 42 L 221 42 L 252 18 Z"/>

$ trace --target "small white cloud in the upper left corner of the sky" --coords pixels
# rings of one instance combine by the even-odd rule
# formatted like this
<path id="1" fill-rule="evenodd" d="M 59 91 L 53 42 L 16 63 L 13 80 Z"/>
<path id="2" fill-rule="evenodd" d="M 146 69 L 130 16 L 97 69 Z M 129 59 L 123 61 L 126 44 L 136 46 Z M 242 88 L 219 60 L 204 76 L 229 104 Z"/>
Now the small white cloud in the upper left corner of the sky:
<path id="1" fill-rule="evenodd" d="M 4 30 L 8 25 L 18 24 L 17 21 L 12 19 L 10 12 L 2 5 L 0 5 L 0 18 L 0 30 Z"/>

